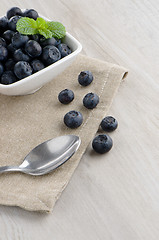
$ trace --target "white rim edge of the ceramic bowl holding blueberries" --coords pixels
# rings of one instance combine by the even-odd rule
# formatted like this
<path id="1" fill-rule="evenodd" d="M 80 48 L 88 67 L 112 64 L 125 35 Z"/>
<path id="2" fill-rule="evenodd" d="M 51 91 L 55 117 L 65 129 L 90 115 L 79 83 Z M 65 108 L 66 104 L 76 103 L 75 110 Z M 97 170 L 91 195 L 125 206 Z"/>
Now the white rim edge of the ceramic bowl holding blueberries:
<path id="1" fill-rule="evenodd" d="M 47 72 L 49 69 L 60 65 L 61 63 L 69 60 L 70 58 L 72 58 L 72 57 L 76 56 L 78 53 L 80 53 L 81 50 L 82 50 L 81 43 L 76 38 L 74 38 L 70 33 L 68 33 L 68 32 L 66 32 L 65 37 L 68 37 L 69 39 L 71 39 L 75 43 L 75 45 L 76 45 L 76 49 L 72 53 L 70 53 L 69 55 L 65 56 L 64 58 L 58 60 L 57 62 L 52 63 L 51 65 L 45 67 L 44 69 L 42 69 L 42 70 L 40 70 L 40 71 L 38 71 L 36 73 L 33 73 L 32 75 L 30 75 L 28 77 L 20 79 L 20 80 L 14 82 L 14 83 L 11 83 L 11 84 L 8 84 L 8 85 L 0 83 L 0 89 L 11 89 L 11 88 L 14 88 L 14 87 L 18 87 L 18 86 L 22 85 L 23 83 L 25 83 L 26 81 L 29 81 L 29 79 L 31 80 L 35 76 L 38 77 L 42 73 Z"/>

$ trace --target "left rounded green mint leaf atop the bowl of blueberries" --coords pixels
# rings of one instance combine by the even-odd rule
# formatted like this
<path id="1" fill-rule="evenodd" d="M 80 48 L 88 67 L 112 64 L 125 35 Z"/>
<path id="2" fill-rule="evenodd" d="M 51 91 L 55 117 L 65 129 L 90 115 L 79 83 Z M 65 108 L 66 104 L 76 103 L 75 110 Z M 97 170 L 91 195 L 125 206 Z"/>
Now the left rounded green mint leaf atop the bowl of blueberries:
<path id="1" fill-rule="evenodd" d="M 28 17 L 22 17 L 18 20 L 16 30 L 25 35 L 34 35 L 38 33 L 36 21 Z"/>

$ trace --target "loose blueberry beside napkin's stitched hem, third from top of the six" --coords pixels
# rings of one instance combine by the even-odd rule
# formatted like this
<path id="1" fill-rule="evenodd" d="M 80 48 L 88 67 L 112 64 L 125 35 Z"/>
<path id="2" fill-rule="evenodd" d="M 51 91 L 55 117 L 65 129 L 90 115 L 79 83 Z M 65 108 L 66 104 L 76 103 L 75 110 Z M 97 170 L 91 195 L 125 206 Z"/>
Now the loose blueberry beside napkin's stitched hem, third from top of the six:
<path id="1" fill-rule="evenodd" d="M 88 93 L 83 98 L 83 105 L 88 109 L 93 109 L 99 103 L 99 97 L 95 93 Z"/>

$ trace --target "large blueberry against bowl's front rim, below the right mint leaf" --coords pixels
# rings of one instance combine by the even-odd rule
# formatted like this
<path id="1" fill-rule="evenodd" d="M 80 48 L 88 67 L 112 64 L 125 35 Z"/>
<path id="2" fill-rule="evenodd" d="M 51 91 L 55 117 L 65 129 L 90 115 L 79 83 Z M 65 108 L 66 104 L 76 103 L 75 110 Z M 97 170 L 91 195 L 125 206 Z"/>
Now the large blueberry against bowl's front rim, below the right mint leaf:
<path id="1" fill-rule="evenodd" d="M 44 62 L 44 64 L 50 65 L 52 63 L 57 62 L 60 58 L 61 53 L 55 46 L 48 45 L 43 48 L 42 61 Z"/>

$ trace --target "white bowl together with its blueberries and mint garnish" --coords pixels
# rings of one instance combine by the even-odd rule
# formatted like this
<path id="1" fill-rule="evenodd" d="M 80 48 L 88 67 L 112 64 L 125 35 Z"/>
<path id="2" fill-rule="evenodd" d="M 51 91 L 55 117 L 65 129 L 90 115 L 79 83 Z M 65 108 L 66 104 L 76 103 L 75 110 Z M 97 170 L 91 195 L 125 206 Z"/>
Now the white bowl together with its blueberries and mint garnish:
<path id="1" fill-rule="evenodd" d="M 26 21 L 32 27 L 29 34 L 18 28 L 26 29 L 23 28 Z M 82 50 L 79 41 L 66 30 L 61 37 L 53 32 L 50 34 L 52 30 L 34 28 L 45 23 L 48 29 L 61 27 L 60 23 L 41 16 L 34 9 L 12 7 L 0 18 L 0 94 L 26 95 L 36 92 L 65 70 Z M 64 26 L 61 29 L 64 30 Z M 2 81 L 2 74 L 6 71 L 12 72 L 7 73 L 7 78 L 12 76 L 11 81 Z"/>

